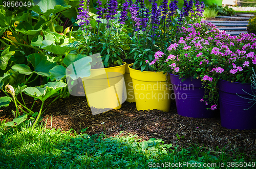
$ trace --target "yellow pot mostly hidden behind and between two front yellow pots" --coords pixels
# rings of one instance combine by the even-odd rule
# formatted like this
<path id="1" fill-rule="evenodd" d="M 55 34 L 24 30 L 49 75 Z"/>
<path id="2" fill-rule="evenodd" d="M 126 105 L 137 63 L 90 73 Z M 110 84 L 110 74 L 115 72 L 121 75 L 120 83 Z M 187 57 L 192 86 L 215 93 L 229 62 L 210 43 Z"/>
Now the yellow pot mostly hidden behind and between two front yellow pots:
<path id="1" fill-rule="evenodd" d="M 125 74 L 123 75 L 125 86 L 126 86 L 126 102 L 133 103 L 135 102 L 134 91 L 133 91 L 133 80 L 130 76 L 129 64 L 125 65 Z"/>

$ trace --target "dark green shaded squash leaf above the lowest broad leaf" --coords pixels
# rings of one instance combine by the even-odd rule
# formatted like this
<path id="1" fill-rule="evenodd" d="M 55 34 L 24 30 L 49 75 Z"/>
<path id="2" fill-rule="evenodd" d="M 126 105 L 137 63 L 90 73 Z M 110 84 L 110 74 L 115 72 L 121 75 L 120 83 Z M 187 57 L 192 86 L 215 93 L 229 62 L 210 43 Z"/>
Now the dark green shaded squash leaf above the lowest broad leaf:
<path id="1" fill-rule="evenodd" d="M 49 70 L 51 70 L 56 62 L 50 62 L 45 55 L 31 54 L 27 56 L 29 62 L 34 67 L 34 73 L 41 76 L 50 76 Z"/>

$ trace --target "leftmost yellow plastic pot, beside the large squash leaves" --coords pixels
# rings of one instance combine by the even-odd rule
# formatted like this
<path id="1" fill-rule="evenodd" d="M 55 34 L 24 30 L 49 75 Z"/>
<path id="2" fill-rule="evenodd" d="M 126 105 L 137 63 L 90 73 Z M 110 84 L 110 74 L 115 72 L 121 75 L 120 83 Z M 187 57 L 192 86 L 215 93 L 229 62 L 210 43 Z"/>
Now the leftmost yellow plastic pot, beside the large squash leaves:
<path id="1" fill-rule="evenodd" d="M 91 69 L 91 76 L 82 78 L 88 106 L 91 109 L 104 112 L 102 110 L 122 107 L 125 98 L 123 95 L 125 65 L 126 63 L 123 62 L 121 66 Z"/>

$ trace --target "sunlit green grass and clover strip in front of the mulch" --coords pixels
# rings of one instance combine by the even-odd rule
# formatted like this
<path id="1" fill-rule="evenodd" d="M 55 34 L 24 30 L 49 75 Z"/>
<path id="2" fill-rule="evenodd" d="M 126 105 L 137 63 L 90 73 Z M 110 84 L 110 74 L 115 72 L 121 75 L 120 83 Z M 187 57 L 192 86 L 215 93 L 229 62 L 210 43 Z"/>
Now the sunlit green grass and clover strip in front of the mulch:
<path id="1" fill-rule="evenodd" d="M 213 151 L 196 144 L 182 149 L 153 138 L 140 142 L 136 135 L 124 136 L 122 132 L 105 138 L 102 134 L 44 130 L 43 126 L 18 128 L 16 132 L 0 126 L 0 168 L 168 168 L 157 164 L 169 162 L 171 166 L 179 162 L 202 165 L 183 168 L 210 168 L 203 163 L 216 163 L 213 168 L 220 168 L 219 163 L 244 161 L 243 154 L 229 156 L 230 150 Z"/>

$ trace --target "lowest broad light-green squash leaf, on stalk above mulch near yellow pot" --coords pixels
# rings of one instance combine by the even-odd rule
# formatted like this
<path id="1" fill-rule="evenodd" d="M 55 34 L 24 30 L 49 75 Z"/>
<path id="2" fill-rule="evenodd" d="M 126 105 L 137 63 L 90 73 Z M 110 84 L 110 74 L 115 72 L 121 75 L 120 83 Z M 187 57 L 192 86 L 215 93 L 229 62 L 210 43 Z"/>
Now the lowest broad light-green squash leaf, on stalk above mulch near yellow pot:
<path id="1" fill-rule="evenodd" d="M 44 102 L 51 95 L 57 93 L 58 90 L 66 87 L 66 85 L 66 83 L 61 81 L 48 82 L 43 87 L 27 87 L 23 90 L 23 92 Z"/>

